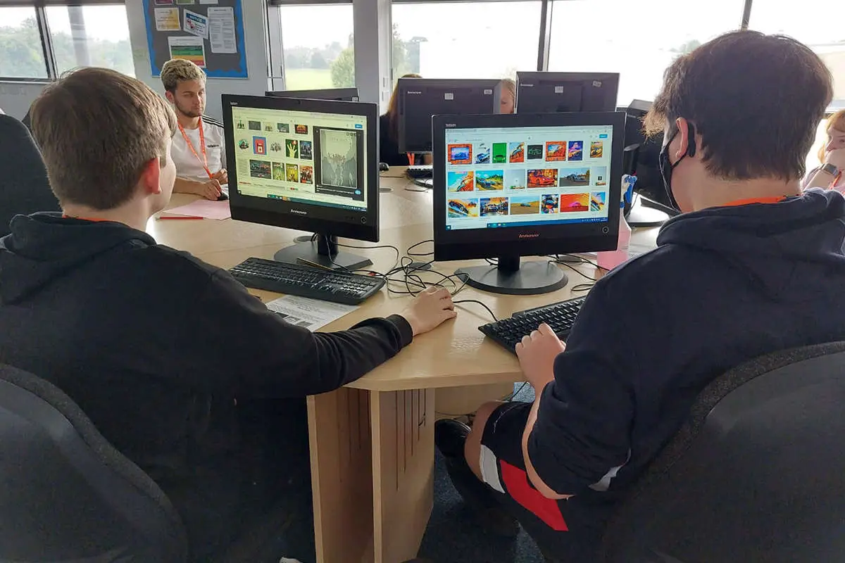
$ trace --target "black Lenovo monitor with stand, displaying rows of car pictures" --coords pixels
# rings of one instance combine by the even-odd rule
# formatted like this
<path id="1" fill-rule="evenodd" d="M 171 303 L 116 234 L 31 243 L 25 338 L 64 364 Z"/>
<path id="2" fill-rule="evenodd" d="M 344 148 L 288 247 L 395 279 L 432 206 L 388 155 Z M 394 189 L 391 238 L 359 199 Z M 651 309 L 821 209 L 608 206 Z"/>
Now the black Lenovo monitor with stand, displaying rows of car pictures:
<path id="1" fill-rule="evenodd" d="M 468 284 L 557 290 L 558 266 L 520 257 L 616 248 L 624 113 L 434 116 L 433 135 L 434 259 L 499 258 Z"/>

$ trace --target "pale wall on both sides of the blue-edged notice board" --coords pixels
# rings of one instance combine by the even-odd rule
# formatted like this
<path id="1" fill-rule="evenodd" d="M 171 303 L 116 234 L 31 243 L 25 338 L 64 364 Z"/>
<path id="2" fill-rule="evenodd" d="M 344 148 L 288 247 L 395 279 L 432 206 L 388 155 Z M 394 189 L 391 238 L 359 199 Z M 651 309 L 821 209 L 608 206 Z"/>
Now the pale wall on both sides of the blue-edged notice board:
<path id="1" fill-rule="evenodd" d="M 241 0 L 243 8 L 244 35 L 247 48 L 247 70 L 249 78 L 209 78 L 206 84 L 205 112 L 217 119 L 222 118 L 221 94 L 264 95 L 267 81 L 267 38 L 266 10 L 261 0 Z M 147 31 L 144 24 L 144 3 L 142 0 L 126 0 L 126 15 L 129 22 L 129 41 L 132 43 L 132 57 L 135 76 L 156 92 L 164 95 L 161 80 L 152 76 L 150 51 L 147 48 Z"/>

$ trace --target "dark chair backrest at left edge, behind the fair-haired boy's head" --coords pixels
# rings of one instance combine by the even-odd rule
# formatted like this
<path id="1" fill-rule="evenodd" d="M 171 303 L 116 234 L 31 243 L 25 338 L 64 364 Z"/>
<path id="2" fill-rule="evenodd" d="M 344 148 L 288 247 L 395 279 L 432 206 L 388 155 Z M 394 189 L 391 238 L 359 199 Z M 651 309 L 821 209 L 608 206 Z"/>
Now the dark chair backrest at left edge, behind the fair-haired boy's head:
<path id="1" fill-rule="evenodd" d="M 0 115 L 0 236 L 15 215 L 59 211 L 41 151 L 25 125 Z"/>

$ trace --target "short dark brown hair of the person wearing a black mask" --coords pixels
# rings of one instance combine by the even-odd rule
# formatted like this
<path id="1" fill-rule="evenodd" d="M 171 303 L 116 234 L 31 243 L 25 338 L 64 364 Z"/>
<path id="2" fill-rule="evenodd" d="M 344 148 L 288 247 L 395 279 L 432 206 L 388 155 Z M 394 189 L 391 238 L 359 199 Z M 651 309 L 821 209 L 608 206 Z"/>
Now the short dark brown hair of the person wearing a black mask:
<path id="1" fill-rule="evenodd" d="M 833 96 L 831 72 L 784 35 L 732 31 L 679 57 L 646 116 L 648 133 L 684 117 L 701 134 L 707 170 L 729 180 L 804 176 Z"/>

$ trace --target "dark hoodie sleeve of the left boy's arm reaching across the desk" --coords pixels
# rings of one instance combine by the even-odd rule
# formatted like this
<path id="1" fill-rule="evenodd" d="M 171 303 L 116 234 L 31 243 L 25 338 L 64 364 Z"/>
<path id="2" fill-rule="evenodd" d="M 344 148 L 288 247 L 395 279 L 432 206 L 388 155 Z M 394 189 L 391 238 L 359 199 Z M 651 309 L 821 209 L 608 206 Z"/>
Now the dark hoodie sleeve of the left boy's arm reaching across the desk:
<path id="1" fill-rule="evenodd" d="M 413 338 L 404 317 L 373 318 L 338 333 L 311 333 L 270 311 L 226 272 L 210 277 L 180 338 L 194 385 L 233 396 L 304 397 L 353 382 Z"/>

